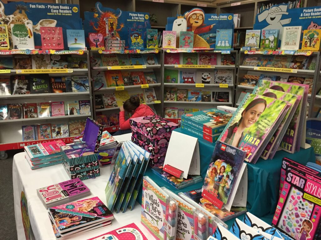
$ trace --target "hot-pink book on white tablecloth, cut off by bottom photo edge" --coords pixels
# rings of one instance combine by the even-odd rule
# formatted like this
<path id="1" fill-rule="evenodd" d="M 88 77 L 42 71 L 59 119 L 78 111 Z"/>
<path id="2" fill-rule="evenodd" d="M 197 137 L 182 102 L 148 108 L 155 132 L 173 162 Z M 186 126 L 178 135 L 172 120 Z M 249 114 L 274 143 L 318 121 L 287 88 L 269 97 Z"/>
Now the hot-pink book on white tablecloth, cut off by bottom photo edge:
<path id="1" fill-rule="evenodd" d="M 121 228 L 117 228 L 115 230 L 112 230 L 110 232 L 104 233 L 102 235 L 99 235 L 97 237 L 90 238 L 88 240 L 103 240 L 108 238 L 111 239 L 119 239 L 119 240 L 147 240 L 145 235 L 142 233 L 142 231 L 136 226 L 136 224 L 131 223 L 126 226 L 123 226 Z"/>

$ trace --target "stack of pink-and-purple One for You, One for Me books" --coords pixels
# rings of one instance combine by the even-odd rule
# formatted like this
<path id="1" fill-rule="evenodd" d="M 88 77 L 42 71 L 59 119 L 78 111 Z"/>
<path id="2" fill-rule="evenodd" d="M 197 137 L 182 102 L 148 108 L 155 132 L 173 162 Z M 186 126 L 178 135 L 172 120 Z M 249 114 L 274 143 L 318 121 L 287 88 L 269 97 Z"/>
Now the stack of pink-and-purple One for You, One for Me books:
<path id="1" fill-rule="evenodd" d="M 46 208 L 69 203 L 90 195 L 90 190 L 79 178 L 59 182 L 37 189 L 37 194 Z"/>

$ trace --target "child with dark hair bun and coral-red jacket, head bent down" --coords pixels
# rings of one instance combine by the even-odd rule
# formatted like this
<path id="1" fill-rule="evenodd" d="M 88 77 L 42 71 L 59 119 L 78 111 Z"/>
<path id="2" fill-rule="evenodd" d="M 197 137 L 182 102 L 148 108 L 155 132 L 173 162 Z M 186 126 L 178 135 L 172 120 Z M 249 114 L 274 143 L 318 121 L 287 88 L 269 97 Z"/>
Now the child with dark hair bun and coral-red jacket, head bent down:
<path id="1" fill-rule="evenodd" d="M 122 135 L 125 133 L 131 133 L 129 119 L 125 120 L 125 111 L 131 113 L 129 118 L 142 117 L 148 115 L 155 115 L 152 108 L 146 104 L 141 104 L 140 99 L 137 96 L 132 96 L 124 102 L 124 105 L 120 107 L 119 112 L 119 128 L 120 130 L 115 132 L 113 136 Z"/>

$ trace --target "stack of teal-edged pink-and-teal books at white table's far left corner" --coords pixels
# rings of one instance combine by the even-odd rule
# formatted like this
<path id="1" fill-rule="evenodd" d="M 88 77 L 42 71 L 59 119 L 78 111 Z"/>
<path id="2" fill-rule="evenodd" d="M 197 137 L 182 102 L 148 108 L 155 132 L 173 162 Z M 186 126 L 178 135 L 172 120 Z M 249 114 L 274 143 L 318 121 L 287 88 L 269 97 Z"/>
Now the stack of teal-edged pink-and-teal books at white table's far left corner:
<path id="1" fill-rule="evenodd" d="M 24 146 L 25 158 L 32 170 L 60 164 L 62 162 L 60 147 L 65 145 L 63 140 L 56 140 Z"/>

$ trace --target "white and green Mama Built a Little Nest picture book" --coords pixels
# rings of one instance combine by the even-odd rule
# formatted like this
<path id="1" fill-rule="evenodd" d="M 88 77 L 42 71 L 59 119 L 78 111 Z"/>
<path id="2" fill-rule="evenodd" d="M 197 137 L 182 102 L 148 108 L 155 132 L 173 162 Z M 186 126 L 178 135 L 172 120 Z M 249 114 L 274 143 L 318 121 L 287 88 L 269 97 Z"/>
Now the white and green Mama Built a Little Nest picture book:
<path id="1" fill-rule="evenodd" d="M 10 24 L 11 40 L 13 49 L 33 50 L 35 44 L 33 40 L 32 23 L 28 24 Z"/>

